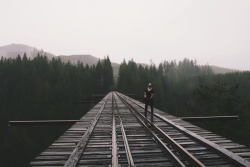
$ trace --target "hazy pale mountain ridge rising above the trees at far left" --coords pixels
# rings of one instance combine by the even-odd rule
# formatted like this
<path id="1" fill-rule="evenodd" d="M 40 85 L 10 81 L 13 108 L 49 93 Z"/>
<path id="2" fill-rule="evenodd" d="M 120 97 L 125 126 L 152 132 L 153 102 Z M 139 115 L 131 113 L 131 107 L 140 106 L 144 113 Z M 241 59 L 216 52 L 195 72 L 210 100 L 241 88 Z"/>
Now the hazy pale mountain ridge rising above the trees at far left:
<path id="1" fill-rule="evenodd" d="M 35 47 L 23 44 L 11 44 L 0 47 L 0 57 L 4 58 L 15 58 L 18 55 L 22 57 L 24 53 L 26 53 L 27 57 L 32 59 L 37 56 L 38 52 L 43 55 L 45 54 L 49 59 L 54 57 L 54 55 L 49 52 L 44 52 L 43 50 L 38 50 Z"/>

